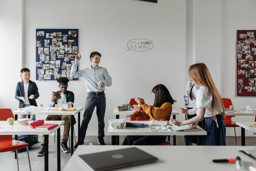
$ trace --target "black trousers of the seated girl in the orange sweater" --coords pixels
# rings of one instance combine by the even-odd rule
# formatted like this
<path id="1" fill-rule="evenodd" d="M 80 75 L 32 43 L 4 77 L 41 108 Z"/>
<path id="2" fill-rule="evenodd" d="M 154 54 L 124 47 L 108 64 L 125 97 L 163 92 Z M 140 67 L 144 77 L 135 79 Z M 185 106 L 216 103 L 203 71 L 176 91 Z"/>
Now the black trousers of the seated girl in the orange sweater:
<path id="1" fill-rule="evenodd" d="M 166 136 L 126 136 L 122 145 L 157 145 L 165 140 Z"/>

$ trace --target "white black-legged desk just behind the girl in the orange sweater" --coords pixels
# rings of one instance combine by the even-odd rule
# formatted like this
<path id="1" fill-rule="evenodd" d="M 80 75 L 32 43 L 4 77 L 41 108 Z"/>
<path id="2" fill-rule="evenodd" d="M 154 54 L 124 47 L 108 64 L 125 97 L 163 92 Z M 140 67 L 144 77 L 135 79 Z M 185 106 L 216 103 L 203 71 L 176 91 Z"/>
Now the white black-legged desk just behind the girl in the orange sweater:
<path id="1" fill-rule="evenodd" d="M 116 119 L 119 119 L 119 115 L 126 116 L 126 115 L 129 115 L 131 113 L 132 113 L 132 111 L 118 111 L 118 108 L 114 108 L 114 111 L 113 111 L 113 115 L 116 115 Z M 175 109 L 172 109 L 172 114 L 171 114 L 172 118 L 175 119 L 176 115 L 179 115 L 179 112 L 176 111 Z M 112 141 L 116 141 L 117 142 L 116 145 L 119 145 L 119 136 L 112 137 Z M 175 135 L 173 136 L 173 145 L 176 145 L 176 136 Z"/>

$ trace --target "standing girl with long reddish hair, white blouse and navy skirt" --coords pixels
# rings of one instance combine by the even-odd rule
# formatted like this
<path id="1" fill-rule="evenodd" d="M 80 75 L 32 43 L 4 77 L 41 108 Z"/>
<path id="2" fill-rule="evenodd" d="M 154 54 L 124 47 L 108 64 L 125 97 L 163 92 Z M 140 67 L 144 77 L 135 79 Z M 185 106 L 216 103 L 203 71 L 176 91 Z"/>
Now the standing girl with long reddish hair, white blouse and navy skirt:
<path id="1" fill-rule="evenodd" d="M 204 63 L 191 65 L 188 75 L 189 80 L 200 87 L 196 92 L 197 116 L 181 122 L 170 119 L 170 124 L 196 127 L 203 121 L 202 128 L 207 131 L 207 136 L 201 136 L 201 145 L 226 145 L 224 105 L 207 66 Z"/>

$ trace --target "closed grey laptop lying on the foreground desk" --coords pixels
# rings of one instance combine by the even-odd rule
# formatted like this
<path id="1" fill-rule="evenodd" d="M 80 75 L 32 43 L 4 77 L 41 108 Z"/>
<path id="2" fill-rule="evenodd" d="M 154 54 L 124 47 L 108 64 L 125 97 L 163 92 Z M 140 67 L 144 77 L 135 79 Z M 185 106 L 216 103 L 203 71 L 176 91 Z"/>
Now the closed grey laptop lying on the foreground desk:
<path id="1" fill-rule="evenodd" d="M 158 158 L 137 147 L 78 155 L 79 160 L 89 170 L 113 170 L 129 166 L 155 162 Z"/>

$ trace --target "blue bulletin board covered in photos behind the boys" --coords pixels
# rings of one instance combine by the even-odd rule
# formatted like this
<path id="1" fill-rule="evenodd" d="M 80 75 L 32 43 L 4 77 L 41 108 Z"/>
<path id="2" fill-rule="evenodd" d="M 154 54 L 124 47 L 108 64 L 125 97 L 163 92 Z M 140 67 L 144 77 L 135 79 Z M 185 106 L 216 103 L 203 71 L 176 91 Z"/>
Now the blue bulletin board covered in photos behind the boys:
<path id="1" fill-rule="evenodd" d="M 36 80 L 78 80 L 71 76 L 78 53 L 78 29 L 36 29 L 35 49 Z"/>

